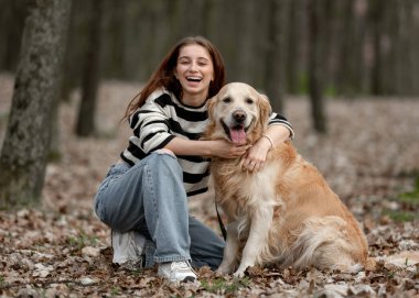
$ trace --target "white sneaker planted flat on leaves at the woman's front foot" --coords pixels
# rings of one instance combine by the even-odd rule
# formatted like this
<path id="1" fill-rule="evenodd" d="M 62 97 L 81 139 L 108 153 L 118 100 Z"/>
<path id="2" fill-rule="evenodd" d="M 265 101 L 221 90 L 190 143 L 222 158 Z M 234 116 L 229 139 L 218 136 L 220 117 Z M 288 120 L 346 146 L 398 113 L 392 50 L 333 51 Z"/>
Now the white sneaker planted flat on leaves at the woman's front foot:
<path id="1" fill-rule="evenodd" d="M 162 263 L 159 265 L 159 276 L 170 282 L 195 282 L 196 274 L 187 261 Z"/>

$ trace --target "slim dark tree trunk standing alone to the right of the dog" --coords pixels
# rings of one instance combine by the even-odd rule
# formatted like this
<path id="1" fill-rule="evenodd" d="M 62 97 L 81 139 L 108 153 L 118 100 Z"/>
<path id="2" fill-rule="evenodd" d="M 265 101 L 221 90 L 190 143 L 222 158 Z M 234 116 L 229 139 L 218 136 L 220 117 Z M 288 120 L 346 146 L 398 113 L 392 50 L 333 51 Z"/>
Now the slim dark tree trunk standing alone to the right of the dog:
<path id="1" fill-rule="evenodd" d="M 309 25 L 310 25 L 310 51 L 309 51 L 309 95 L 311 100 L 311 112 L 314 130 L 326 133 L 326 118 L 324 112 L 324 57 L 322 32 L 323 0 L 309 1 Z"/>

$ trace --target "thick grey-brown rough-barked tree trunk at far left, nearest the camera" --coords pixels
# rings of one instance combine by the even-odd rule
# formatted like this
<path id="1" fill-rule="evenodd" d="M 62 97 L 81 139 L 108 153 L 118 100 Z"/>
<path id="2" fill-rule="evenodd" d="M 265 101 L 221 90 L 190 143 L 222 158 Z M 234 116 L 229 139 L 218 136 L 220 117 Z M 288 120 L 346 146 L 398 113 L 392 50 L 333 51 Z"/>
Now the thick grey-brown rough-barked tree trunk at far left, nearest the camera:
<path id="1" fill-rule="evenodd" d="M 0 207 L 37 203 L 51 141 L 71 1 L 31 1 L 0 155 Z"/>

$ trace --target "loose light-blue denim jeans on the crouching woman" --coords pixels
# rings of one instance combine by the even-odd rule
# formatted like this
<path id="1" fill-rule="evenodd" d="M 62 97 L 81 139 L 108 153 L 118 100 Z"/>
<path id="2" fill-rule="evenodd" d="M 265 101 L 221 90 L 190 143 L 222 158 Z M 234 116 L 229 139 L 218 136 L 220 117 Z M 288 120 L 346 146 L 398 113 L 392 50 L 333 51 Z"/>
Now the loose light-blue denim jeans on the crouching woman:
<path id="1" fill-rule="evenodd" d="M 182 168 L 171 154 L 154 152 L 132 167 L 112 165 L 94 205 L 112 230 L 139 231 L 152 241 L 144 247 L 147 267 L 192 261 L 194 267 L 215 269 L 223 260 L 224 241 L 189 216 Z"/>

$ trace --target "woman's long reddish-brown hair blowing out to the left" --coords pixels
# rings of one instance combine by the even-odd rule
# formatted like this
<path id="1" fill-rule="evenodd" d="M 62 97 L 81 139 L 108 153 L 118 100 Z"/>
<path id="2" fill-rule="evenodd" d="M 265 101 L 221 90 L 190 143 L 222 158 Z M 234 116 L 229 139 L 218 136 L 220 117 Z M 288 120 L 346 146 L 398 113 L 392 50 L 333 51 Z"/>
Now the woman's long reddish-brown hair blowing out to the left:
<path id="1" fill-rule="evenodd" d="M 214 80 L 210 85 L 208 98 L 215 96 L 225 85 L 225 66 L 219 51 L 203 36 L 190 36 L 181 40 L 163 58 L 159 68 L 153 73 L 142 90 L 129 102 L 123 119 L 129 118 L 138 108 L 144 104 L 147 98 L 158 88 L 164 87 L 176 98 L 182 98 L 182 86 L 174 77 L 178 57 L 181 48 L 197 44 L 208 51 L 214 67 Z"/>

